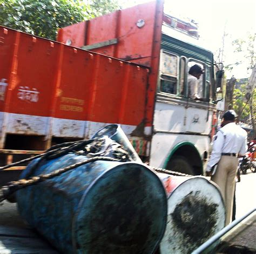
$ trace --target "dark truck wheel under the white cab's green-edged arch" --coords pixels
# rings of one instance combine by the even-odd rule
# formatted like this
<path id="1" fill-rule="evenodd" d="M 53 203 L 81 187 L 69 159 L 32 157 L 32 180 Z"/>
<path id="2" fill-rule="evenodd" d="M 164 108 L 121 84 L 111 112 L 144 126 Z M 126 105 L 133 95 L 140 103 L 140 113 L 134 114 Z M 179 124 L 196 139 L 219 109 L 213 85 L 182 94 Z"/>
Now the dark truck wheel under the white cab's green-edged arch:
<path id="1" fill-rule="evenodd" d="M 184 156 L 173 156 L 168 163 L 168 168 L 172 171 L 194 175 L 193 167 Z"/>

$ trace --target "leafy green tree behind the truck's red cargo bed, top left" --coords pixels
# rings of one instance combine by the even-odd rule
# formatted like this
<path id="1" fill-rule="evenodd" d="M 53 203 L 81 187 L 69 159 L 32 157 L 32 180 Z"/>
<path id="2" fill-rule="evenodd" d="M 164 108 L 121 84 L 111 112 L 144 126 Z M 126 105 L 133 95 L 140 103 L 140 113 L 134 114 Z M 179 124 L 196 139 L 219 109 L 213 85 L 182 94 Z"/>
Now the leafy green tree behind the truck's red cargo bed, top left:
<path id="1" fill-rule="evenodd" d="M 0 0 L 0 24 L 54 40 L 58 29 L 115 8 L 117 0 Z"/>

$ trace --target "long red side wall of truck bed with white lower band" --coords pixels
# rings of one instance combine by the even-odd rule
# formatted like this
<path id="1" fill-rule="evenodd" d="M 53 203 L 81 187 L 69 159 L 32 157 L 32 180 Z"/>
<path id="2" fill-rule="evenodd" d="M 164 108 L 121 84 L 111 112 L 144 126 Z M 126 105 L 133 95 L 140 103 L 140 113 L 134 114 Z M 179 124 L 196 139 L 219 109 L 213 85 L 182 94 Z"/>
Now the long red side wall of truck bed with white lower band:
<path id="1" fill-rule="evenodd" d="M 0 31 L 0 77 L 9 83 L 0 114 L 1 148 L 6 133 L 85 138 L 107 123 L 120 123 L 129 134 L 144 121 L 146 67 Z"/>

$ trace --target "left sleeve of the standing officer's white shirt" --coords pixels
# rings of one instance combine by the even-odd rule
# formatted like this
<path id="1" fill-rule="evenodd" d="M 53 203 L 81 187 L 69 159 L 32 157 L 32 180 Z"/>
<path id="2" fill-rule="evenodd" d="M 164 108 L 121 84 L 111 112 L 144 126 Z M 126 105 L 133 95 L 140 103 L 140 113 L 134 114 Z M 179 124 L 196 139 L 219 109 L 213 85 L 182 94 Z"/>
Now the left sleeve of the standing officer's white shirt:
<path id="1" fill-rule="evenodd" d="M 211 171 L 211 168 L 219 162 L 224 145 L 224 140 L 224 134 L 218 131 L 215 135 L 215 140 L 213 141 L 212 154 L 210 160 L 207 163 L 206 171 Z"/>

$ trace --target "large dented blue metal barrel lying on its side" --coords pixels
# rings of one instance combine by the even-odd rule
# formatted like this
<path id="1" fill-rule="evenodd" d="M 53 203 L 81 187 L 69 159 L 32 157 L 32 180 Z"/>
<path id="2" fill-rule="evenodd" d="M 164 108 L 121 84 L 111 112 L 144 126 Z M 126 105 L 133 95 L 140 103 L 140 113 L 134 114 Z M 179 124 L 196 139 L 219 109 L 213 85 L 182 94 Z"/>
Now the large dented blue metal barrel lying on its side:
<path id="1" fill-rule="evenodd" d="M 21 177 L 85 159 L 69 153 L 35 160 Z M 23 218 L 62 253 L 149 254 L 164 235 L 165 189 L 156 174 L 136 162 L 90 162 L 16 196 Z"/>

